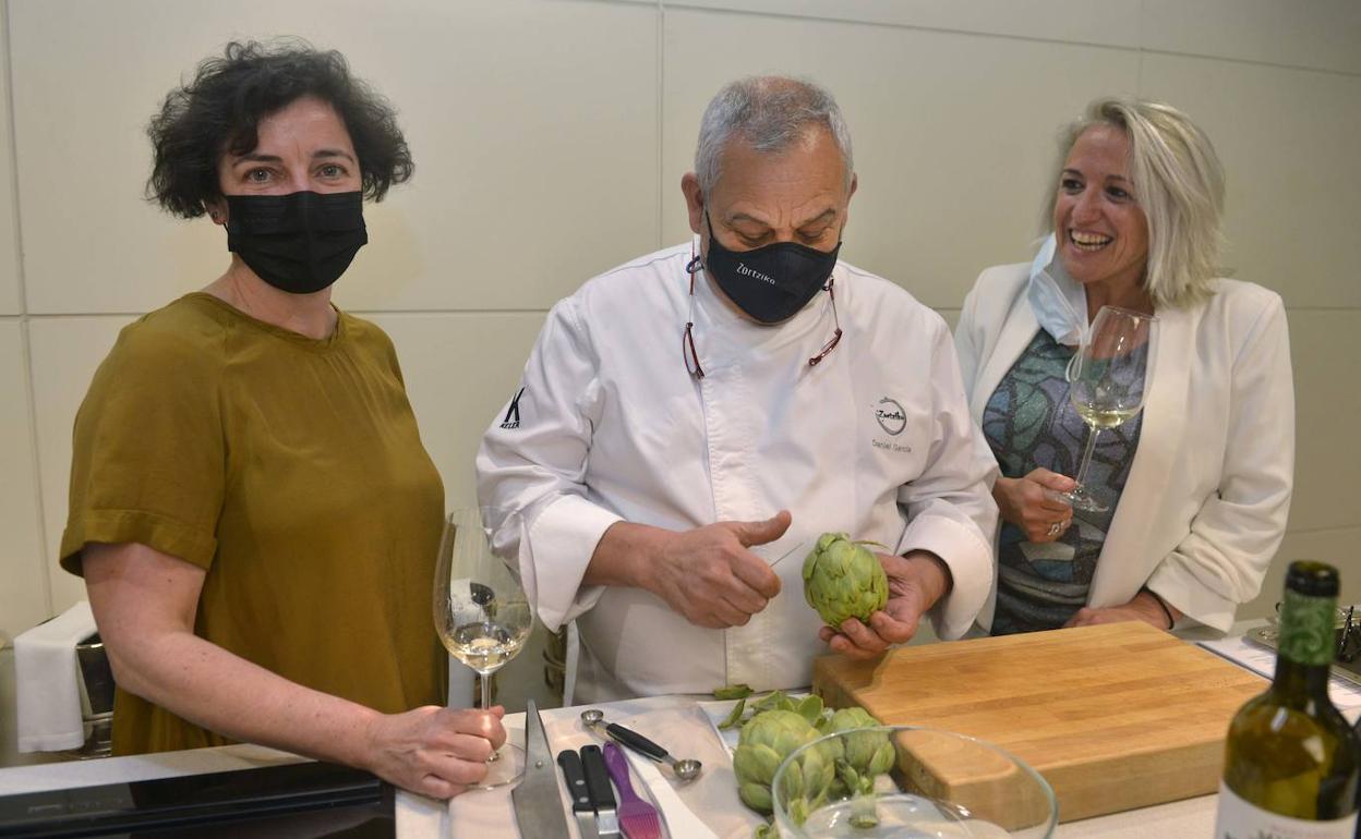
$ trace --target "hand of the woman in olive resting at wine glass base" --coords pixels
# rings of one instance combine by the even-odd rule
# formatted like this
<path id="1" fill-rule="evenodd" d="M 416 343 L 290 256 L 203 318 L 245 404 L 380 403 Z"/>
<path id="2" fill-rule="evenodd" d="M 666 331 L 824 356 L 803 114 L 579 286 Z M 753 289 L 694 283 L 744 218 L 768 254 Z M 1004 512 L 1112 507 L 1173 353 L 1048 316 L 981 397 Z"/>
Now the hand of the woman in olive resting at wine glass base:
<path id="1" fill-rule="evenodd" d="M 490 711 L 425 706 L 378 714 L 357 763 L 412 793 L 452 798 L 486 776 L 487 757 L 506 741 L 502 717 L 501 706 Z"/>

